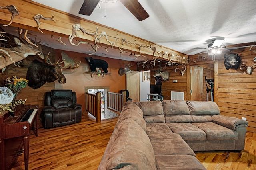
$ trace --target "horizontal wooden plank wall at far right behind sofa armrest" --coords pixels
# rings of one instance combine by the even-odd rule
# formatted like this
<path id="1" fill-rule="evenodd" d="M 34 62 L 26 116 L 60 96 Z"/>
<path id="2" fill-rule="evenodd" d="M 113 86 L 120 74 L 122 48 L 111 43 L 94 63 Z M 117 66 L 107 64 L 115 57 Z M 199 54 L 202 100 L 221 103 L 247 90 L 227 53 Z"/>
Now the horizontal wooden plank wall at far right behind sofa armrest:
<path id="1" fill-rule="evenodd" d="M 239 53 L 242 62 L 253 64 L 256 53 L 248 49 Z M 252 75 L 238 70 L 226 70 L 224 60 L 218 61 L 218 106 L 222 115 L 246 117 L 247 131 L 256 133 L 256 71 Z"/>

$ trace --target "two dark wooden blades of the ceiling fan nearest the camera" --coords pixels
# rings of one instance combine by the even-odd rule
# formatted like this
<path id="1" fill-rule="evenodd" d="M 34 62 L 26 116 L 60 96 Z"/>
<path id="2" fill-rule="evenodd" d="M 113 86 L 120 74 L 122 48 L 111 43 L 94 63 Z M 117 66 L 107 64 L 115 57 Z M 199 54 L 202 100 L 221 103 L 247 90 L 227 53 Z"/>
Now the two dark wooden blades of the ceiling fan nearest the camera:
<path id="1" fill-rule="evenodd" d="M 138 0 L 119 0 L 139 21 L 145 20 L 149 14 Z M 84 0 L 79 14 L 90 16 L 100 0 Z"/>

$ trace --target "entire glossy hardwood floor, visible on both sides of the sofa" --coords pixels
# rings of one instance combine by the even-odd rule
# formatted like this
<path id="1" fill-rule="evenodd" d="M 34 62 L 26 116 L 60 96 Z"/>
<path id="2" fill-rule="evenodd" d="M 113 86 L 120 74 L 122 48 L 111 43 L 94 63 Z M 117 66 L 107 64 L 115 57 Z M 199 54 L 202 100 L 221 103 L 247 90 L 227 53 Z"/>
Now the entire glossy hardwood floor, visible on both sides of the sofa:
<path id="1" fill-rule="evenodd" d="M 40 129 L 30 135 L 29 170 L 96 170 L 117 118 L 96 123 L 83 113 L 82 122 L 66 127 Z M 256 134 L 246 134 L 242 152 L 196 152 L 207 170 L 256 170 Z M 24 156 L 12 170 L 24 170 Z"/>

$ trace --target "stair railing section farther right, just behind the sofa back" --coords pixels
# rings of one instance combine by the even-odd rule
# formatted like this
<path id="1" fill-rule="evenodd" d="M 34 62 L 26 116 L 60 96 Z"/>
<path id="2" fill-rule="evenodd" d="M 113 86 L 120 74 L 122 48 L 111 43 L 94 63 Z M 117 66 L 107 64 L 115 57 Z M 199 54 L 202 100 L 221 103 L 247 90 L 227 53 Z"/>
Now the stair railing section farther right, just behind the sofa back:
<path id="1" fill-rule="evenodd" d="M 118 113 L 122 111 L 122 107 L 126 102 L 126 93 L 108 92 L 108 109 L 114 110 Z"/>

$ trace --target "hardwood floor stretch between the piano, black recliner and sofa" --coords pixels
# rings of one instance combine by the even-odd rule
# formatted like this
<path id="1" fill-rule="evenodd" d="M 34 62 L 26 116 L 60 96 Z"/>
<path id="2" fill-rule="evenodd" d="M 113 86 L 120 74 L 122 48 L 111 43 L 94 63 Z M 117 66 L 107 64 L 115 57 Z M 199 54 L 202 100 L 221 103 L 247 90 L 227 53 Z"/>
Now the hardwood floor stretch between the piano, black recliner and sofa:
<path id="1" fill-rule="evenodd" d="M 96 123 L 88 113 L 82 122 L 30 135 L 29 170 L 96 170 L 117 118 Z M 12 170 L 24 170 L 24 156 Z"/>

